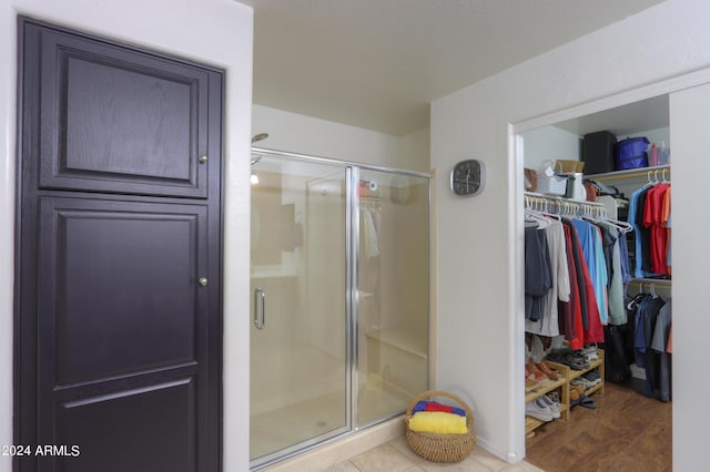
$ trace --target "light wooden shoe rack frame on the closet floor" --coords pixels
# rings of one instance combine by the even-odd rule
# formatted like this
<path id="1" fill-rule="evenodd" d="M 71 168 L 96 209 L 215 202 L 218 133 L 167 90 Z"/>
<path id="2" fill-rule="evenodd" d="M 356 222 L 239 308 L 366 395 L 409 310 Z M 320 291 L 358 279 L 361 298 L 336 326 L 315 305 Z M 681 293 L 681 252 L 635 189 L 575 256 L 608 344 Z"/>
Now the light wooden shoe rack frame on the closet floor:
<path id="1" fill-rule="evenodd" d="M 564 363 L 557 363 L 557 362 L 551 362 L 549 360 L 546 360 L 545 362 L 551 369 L 557 370 L 559 372 L 560 378 L 558 380 L 546 379 L 537 382 L 538 384 L 536 387 L 532 387 L 530 391 L 526 390 L 525 402 L 528 403 L 544 394 L 547 394 L 551 391 L 559 389 L 559 398 L 560 398 L 559 419 L 568 421 L 570 415 L 570 410 L 571 410 L 571 406 L 569 401 L 569 386 L 570 386 L 569 382 L 571 380 L 584 376 L 590 370 L 598 369 L 599 377 L 601 378 L 601 382 L 586 389 L 585 394 L 587 397 L 597 392 L 599 392 L 600 394 L 604 394 L 604 386 L 605 386 L 604 349 L 597 348 L 597 356 L 599 357 L 599 359 L 588 361 L 589 367 L 582 370 L 575 370 L 575 369 L 571 369 L 569 366 L 565 366 Z M 545 423 L 546 423 L 545 421 L 538 420 L 536 418 L 525 417 L 526 435 Z"/>

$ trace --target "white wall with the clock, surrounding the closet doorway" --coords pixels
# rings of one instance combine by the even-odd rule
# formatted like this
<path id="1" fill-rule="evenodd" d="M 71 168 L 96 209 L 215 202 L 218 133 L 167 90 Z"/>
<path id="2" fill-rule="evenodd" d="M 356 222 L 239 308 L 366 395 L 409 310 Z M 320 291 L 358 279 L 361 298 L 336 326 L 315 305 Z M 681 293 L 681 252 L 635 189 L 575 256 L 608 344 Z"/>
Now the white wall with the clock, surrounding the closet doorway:
<path id="1" fill-rule="evenodd" d="M 569 109 L 592 101 L 587 112 L 597 112 L 619 105 L 615 95 L 621 92 L 629 102 L 648 98 L 651 84 L 709 65 L 710 3 L 668 0 L 433 103 L 432 163 L 439 179 L 437 387 L 469 392 L 479 443 L 501 458 L 516 461 L 525 451 L 523 161 L 515 153 L 510 124 L 547 114 L 551 117 L 535 119 L 537 126 L 551 124 L 574 117 Z M 673 83 L 678 81 L 682 82 Z M 659 93 L 666 92 L 659 88 Z M 528 123 L 519 131 L 537 126 Z M 674 132 L 672 137 L 676 165 L 680 146 Z M 474 152 L 487 164 L 486 191 L 473 199 L 456 198 L 446 176 L 456 161 Z M 673 171 L 673 182 L 682 185 L 680 178 Z M 673 222 L 698 205 L 686 194 L 673 194 Z M 710 229 L 704 227 L 707 219 L 693 225 L 696 234 Z M 692 259 L 681 256 L 688 250 L 692 248 L 674 246 L 677 264 Z M 692 264 L 674 270 L 688 270 L 683 281 L 691 288 L 686 289 L 702 294 L 707 268 L 699 266 L 707 260 Z M 700 315 L 676 311 L 677 321 Z M 701 343 L 682 346 L 674 351 L 674 365 L 697 365 L 693 359 L 706 357 Z M 686 372 L 674 371 L 676 387 L 692 382 Z M 674 470 L 693 470 L 692 464 L 697 469 L 706 461 L 704 424 L 692 420 L 692 412 L 706 407 L 697 398 L 687 399 L 688 403 L 673 402 L 673 443 L 684 444 L 683 456 L 673 454 Z"/>

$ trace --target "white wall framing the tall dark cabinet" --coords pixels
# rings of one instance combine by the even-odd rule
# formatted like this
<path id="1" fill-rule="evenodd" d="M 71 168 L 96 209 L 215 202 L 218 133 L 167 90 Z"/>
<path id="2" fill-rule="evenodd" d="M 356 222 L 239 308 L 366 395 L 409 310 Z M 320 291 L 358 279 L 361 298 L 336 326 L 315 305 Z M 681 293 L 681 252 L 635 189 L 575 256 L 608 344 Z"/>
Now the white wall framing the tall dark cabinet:
<path id="1" fill-rule="evenodd" d="M 0 2 L 0 444 L 12 444 L 17 13 L 226 70 L 224 470 L 248 468 L 248 153 L 253 12 L 233 0 Z M 130 452 L 126 452 L 130 453 Z M 0 456 L 0 472 L 11 458 Z"/>

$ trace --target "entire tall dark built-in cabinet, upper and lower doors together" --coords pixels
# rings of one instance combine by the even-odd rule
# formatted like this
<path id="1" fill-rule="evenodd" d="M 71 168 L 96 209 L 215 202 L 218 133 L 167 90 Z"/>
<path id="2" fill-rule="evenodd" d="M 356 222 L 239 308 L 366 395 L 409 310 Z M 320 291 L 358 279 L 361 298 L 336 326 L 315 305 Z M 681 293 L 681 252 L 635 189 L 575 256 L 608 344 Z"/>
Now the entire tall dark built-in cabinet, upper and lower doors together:
<path id="1" fill-rule="evenodd" d="M 20 20 L 16 470 L 221 470 L 222 73 Z"/>

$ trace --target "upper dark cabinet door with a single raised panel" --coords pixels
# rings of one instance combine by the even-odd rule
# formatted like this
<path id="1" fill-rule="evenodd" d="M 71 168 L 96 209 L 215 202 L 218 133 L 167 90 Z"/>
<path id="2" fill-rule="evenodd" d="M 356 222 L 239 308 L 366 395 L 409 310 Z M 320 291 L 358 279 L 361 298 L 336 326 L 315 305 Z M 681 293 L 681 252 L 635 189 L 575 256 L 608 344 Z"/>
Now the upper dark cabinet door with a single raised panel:
<path id="1" fill-rule="evenodd" d="M 29 41 L 26 62 L 41 90 L 28 124 L 40 188 L 207 196 L 221 99 L 211 71 L 51 29 Z"/>

